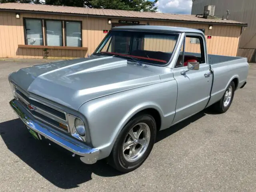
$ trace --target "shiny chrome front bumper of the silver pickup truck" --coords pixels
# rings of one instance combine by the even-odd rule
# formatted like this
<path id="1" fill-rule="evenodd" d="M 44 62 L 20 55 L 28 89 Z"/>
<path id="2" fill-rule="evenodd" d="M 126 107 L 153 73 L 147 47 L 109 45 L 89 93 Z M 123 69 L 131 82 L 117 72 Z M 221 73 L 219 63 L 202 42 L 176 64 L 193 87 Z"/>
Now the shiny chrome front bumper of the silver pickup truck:
<path id="1" fill-rule="evenodd" d="M 54 131 L 53 128 L 36 120 L 16 99 L 10 101 L 10 106 L 28 128 L 70 152 L 81 156 L 80 160 L 82 162 L 86 164 L 93 164 L 98 160 L 100 154 L 98 149 L 90 148 L 80 142 L 72 142 L 72 139 L 68 140 L 68 136 L 65 136 L 64 138 L 63 134 L 58 134 L 58 131 Z"/>

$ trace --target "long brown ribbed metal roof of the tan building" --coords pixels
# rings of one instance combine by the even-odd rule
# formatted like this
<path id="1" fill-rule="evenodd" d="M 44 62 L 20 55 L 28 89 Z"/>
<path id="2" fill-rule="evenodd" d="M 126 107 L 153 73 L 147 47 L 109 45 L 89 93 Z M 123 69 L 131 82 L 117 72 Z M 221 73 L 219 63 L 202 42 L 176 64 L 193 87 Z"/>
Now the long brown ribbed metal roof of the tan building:
<path id="1" fill-rule="evenodd" d="M 53 6 L 42 4 L 27 4 L 27 3 L 3 3 L 0 4 L 0 10 L 17 11 L 20 12 L 36 12 L 36 13 L 50 13 L 50 14 L 69 14 L 69 15 L 88 15 L 100 16 L 108 18 L 134 18 L 146 20 L 170 20 L 176 22 L 200 22 L 226 25 L 247 26 L 246 23 L 237 22 L 233 20 L 218 20 L 218 19 L 204 19 L 198 18 L 194 15 L 170 14 L 170 13 L 156 13 L 156 12 L 139 12 L 126 10 L 110 10 L 110 9 L 94 9 L 82 7 L 68 7 L 68 6 Z"/>

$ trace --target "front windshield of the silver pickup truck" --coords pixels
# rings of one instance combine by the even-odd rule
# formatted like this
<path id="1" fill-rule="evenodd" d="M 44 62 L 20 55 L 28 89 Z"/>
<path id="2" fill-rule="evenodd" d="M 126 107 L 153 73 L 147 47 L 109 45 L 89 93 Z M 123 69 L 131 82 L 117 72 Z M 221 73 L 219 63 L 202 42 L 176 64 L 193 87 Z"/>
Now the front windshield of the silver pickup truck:
<path id="1" fill-rule="evenodd" d="M 165 65 L 172 56 L 178 36 L 160 32 L 113 30 L 94 54 L 126 56 L 148 64 Z"/>

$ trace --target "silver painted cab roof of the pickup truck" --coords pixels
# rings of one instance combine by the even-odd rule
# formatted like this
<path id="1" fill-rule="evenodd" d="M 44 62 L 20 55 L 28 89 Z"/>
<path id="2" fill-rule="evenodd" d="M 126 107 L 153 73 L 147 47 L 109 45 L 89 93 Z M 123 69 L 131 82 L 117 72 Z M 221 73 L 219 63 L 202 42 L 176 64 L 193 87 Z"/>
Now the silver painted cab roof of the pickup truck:
<path id="1" fill-rule="evenodd" d="M 130 26 L 118 26 L 112 28 L 113 30 L 127 29 L 127 30 L 164 30 L 172 32 L 189 32 L 189 33 L 201 33 L 202 31 L 197 29 L 185 28 L 185 27 L 170 27 L 170 26 L 152 26 L 152 25 L 130 25 Z"/>

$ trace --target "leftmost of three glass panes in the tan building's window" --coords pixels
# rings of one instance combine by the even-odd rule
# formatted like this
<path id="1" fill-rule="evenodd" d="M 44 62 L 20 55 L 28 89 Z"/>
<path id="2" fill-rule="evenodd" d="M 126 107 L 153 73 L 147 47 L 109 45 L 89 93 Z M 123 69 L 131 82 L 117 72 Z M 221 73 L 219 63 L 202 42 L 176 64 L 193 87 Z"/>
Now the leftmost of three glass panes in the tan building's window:
<path id="1" fill-rule="evenodd" d="M 26 19 L 26 44 L 43 45 L 42 20 Z"/>

